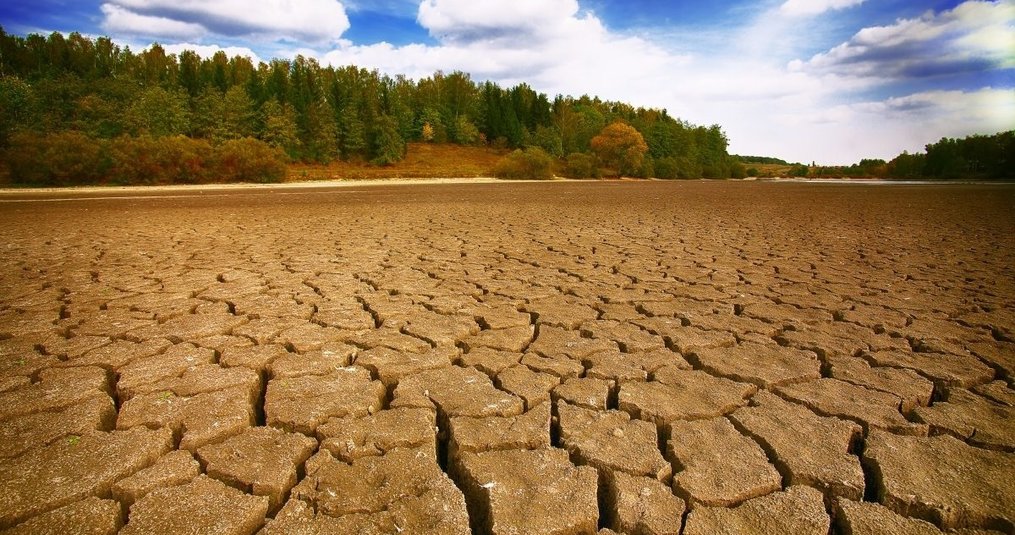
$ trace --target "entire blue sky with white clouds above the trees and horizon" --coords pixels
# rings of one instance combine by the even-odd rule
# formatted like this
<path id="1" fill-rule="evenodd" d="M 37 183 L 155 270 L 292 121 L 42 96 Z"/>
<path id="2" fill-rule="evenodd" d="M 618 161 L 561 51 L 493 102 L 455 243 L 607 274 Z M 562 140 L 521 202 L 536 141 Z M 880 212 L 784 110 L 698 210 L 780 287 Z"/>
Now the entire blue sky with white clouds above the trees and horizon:
<path id="1" fill-rule="evenodd" d="M 849 164 L 1015 129 L 1015 0 L 4 0 L 12 34 L 469 73 Z"/>

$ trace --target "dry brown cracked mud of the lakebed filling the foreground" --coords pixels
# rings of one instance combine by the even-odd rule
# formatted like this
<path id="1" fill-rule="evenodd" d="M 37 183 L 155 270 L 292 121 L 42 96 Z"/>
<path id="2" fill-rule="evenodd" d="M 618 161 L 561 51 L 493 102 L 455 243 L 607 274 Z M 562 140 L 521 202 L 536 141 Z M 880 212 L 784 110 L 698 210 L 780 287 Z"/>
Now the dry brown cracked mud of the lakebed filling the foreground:
<path id="1" fill-rule="evenodd" d="M 0 530 L 1012 533 L 1013 330 L 1012 186 L 5 193 Z"/>

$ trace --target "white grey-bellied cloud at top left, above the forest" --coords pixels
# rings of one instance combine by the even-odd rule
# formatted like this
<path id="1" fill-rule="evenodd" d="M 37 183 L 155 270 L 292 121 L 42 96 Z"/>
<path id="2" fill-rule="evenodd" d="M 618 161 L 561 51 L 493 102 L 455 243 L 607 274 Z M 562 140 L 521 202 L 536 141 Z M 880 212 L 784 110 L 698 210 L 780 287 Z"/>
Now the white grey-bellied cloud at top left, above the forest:
<path id="1" fill-rule="evenodd" d="M 349 28 L 337 0 L 110 0 L 104 29 L 136 36 L 267 37 L 333 43 Z"/>

